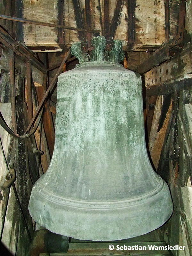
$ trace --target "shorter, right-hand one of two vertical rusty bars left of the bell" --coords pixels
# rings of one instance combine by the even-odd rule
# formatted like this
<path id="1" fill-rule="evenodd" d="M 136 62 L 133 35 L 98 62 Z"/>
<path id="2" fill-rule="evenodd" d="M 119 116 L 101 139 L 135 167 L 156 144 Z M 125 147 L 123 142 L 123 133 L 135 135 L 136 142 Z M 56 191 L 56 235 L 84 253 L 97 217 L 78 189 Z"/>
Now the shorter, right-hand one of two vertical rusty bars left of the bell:
<path id="1" fill-rule="evenodd" d="M 32 99 L 32 87 L 31 87 L 31 63 L 27 61 L 26 63 L 27 72 L 27 107 L 28 107 L 28 119 L 31 120 L 33 117 L 33 99 Z"/>

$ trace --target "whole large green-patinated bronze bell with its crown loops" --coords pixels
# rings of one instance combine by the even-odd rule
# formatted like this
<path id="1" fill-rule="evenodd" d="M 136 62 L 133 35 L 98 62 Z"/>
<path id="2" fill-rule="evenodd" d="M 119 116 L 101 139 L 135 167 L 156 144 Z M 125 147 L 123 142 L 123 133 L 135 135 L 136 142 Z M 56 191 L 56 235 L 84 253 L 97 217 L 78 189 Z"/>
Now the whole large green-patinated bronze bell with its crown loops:
<path id="1" fill-rule="evenodd" d="M 169 188 L 152 169 L 144 136 L 141 76 L 123 68 L 122 43 L 103 36 L 58 77 L 55 147 L 32 189 L 29 212 L 64 236 L 108 241 L 139 236 L 172 214 Z"/>

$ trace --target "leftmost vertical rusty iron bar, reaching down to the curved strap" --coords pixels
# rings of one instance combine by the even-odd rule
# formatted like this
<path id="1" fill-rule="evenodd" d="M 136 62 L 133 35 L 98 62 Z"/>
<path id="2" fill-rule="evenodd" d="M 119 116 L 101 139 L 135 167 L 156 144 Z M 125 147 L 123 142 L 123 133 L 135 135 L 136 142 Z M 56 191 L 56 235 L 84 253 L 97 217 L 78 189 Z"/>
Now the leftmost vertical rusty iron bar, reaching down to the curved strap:
<path id="1" fill-rule="evenodd" d="M 11 84 L 11 110 L 14 132 L 17 133 L 16 98 L 15 98 L 15 60 L 14 52 L 9 50 L 10 84 Z"/>

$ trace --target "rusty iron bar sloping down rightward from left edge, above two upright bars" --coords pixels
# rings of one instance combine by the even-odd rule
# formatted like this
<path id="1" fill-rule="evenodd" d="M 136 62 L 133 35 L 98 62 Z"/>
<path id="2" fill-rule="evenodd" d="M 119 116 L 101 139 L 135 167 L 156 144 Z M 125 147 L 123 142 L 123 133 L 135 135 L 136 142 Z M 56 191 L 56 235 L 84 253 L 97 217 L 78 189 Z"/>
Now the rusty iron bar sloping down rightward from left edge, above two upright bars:
<path id="1" fill-rule="evenodd" d="M 45 66 L 38 61 L 31 53 L 31 51 L 27 51 L 27 47 L 24 48 L 21 44 L 19 44 L 14 38 L 12 38 L 3 28 L 0 27 L 0 41 L 13 52 L 15 52 L 18 56 L 20 56 L 25 61 L 30 61 L 30 63 L 35 66 L 37 69 L 46 72 Z"/>

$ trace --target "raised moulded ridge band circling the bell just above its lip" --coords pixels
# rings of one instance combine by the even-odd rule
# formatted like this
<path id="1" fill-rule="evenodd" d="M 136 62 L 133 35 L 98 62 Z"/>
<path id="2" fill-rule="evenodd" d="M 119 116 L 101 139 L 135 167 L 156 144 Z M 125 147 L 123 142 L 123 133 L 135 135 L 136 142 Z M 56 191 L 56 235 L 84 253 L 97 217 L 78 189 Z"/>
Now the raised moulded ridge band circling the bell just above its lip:
<path id="1" fill-rule="evenodd" d="M 159 176 L 160 178 L 160 176 Z M 41 189 L 39 187 L 38 184 L 36 184 L 37 189 L 41 190 L 41 196 L 45 199 L 45 200 L 49 200 L 53 203 L 57 203 L 57 204 L 62 204 L 64 207 L 74 207 L 74 208 L 82 208 L 82 209 L 97 209 L 97 210 L 102 210 L 102 209 L 111 209 L 111 207 L 113 208 L 127 208 L 129 206 L 132 206 L 133 204 L 142 204 L 143 200 L 145 200 L 146 198 L 155 196 L 156 194 L 158 194 L 164 187 L 164 180 L 163 179 L 159 179 L 160 183 L 158 184 L 158 186 L 153 189 L 152 191 L 150 191 L 147 194 L 144 194 L 142 196 L 139 197 L 135 197 L 132 199 L 126 199 L 126 200 L 118 200 L 118 201 L 108 201 L 108 202 L 97 202 L 97 201 L 84 201 L 82 200 L 74 200 L 74 199 L 68 199 L 62 196 L 57 196 L 54 195 L 52 193 L 50 193 L 47 189 Z"/>

